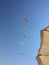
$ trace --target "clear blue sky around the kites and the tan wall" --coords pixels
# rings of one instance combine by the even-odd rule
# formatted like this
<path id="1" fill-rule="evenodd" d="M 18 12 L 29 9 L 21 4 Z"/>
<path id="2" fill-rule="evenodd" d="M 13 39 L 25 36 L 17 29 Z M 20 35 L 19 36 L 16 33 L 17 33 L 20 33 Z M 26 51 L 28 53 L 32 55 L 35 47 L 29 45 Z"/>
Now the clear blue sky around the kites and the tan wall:
<path id="1" fill-rule="evenodd" d="M 0 65 L 38 65 L 40 30 L 47 26 L 49 0 L 0 0 Z"/>

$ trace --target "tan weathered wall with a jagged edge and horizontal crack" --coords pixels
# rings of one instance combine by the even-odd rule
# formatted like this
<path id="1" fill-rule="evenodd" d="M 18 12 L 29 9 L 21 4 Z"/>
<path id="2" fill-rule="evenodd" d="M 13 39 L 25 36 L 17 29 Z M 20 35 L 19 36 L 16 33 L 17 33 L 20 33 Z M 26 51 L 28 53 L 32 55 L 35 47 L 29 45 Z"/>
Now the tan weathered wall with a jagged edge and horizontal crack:
<path id="1" fill-rule="evenodd" d="M 38 65 L 49 65 L 49 27 L 41 30 L 41 44 L 36 57 Z"/>

